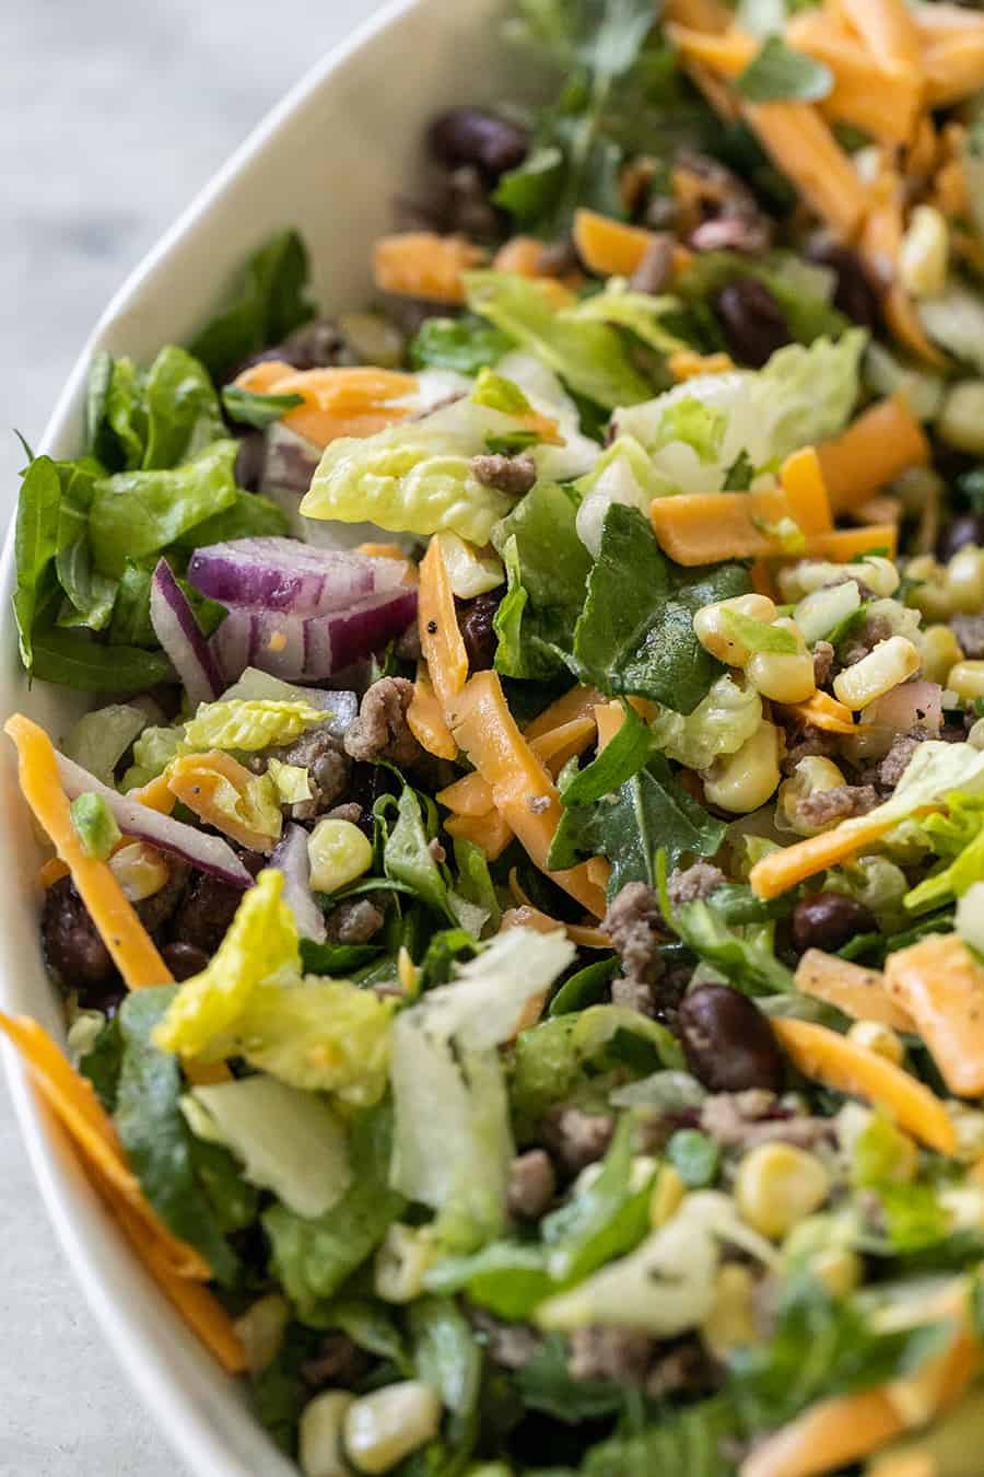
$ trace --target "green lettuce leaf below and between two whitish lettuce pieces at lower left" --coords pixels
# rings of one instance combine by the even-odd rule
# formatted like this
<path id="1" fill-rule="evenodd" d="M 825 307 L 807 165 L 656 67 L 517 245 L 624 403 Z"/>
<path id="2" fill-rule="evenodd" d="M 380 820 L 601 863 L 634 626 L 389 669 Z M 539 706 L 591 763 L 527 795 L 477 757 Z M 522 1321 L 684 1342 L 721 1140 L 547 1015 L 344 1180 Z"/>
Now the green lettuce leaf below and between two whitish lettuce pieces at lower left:
<path id="1" fill-rule="evenodd" d="M 344 1198 L 314 1219 L 285 1205 L 264 1211 L 271 1272 L 301 1317 L 338 1292 L 403 1213 L 406 1201 L 389 1188 L 391 1146 L 389 1108 L 357 1114 L 350 1128 L 353 1180 Z"/>

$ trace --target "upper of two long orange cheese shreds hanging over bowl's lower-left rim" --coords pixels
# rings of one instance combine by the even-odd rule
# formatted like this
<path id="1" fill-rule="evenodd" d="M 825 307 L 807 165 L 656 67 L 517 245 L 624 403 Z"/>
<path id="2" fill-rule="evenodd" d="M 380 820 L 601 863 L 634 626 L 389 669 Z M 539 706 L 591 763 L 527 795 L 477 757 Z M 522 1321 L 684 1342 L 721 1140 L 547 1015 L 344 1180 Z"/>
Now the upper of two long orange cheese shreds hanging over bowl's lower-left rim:
<path id="1" fill-rule="evenodd" d="M 187 1242 L 174 1236 L 153 1210 L 127 1164 L 117 1127 L 91 1083 L 81 1077 L 52 1037 L 30 1016 L 0 1012 L 0 1031 L 13 1043 L 31 1080 L 49 1105 L 103 1195 L 125 1205 L 143 1242 L 153 1242 L 176 1278 L 208 1281 L 211 1269 Z"/>

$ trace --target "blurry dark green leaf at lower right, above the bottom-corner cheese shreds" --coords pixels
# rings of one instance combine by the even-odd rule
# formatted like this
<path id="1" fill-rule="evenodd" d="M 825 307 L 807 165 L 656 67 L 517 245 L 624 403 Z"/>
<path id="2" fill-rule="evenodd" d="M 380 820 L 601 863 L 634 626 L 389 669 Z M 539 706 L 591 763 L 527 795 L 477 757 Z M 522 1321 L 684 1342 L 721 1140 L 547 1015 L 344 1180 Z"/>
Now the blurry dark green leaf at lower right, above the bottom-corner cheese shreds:
<path id="1" fill-rule="evenodd" d="M 912 1374 L 952 1337 L 947 1323 L 876 1332 L 851 1298 L 794 1276 L 769 1343 L 730 1356 L 730 1393 L 751 1428 L 782 1425 L 814 1400 Z"/>

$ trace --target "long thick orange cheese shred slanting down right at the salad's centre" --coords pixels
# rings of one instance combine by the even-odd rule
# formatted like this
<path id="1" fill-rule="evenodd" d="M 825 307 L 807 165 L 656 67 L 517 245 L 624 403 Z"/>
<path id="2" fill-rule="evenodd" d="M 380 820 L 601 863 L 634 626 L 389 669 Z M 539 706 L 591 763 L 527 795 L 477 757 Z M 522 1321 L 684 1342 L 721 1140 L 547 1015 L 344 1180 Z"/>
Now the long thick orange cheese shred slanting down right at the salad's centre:
<path id="1" fill-rule="evenodd" d="M 466 682 L 453 700 L 448 724 L 459 747 L 487 780 L 496 809 L 537 867 L 547 871 L 561 801 L 553 780 L 519 733 L 496 672 L 477 672 Z M 589 880 L 584 864 L 547 876 L 602 917 L 605 894 Z"/>

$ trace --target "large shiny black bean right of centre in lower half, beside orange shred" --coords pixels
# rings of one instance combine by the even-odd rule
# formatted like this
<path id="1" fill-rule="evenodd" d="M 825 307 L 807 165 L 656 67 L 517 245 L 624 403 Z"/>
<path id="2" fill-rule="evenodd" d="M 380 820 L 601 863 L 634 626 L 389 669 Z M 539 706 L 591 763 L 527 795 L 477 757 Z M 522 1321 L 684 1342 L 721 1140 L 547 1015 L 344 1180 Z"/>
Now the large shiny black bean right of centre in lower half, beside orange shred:
<path id="1" fill-rule="evenodd" d="M 677 1015 L 687 1066 L 713 1093 L 782 1092 L 782 1055 L 769 1021 L 727 985 L 699 985 Z"/>

